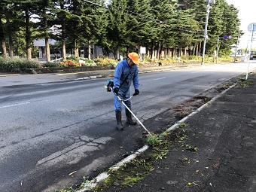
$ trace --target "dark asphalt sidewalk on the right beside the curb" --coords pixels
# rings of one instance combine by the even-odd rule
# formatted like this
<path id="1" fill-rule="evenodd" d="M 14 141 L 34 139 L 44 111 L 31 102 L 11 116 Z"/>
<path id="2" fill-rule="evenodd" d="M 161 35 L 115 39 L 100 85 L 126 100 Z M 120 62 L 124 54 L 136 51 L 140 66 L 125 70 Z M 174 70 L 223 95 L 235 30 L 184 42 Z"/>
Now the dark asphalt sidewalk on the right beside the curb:
<path id="1" fill-rule="evenodd" d="M 145 178 L 133 170 L 136 182 L 123 184 L 132 178 L 121 175 L 102 191 L 256 191 L 256 73 L 201 108 L 175 129 L 183 140 Z M 147 155 L 139 159 L 147 163 Z"/>

